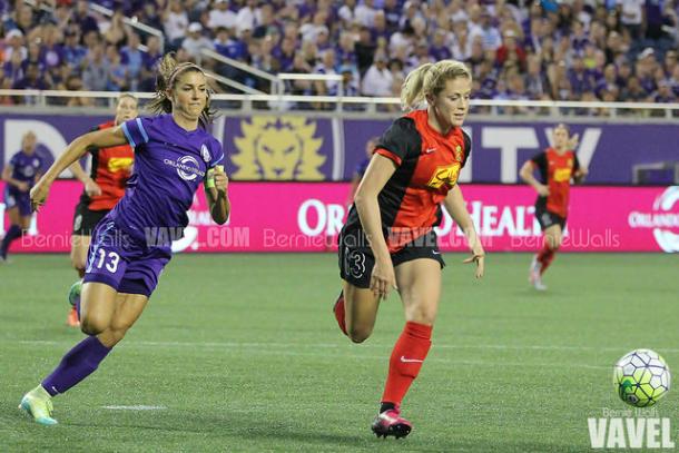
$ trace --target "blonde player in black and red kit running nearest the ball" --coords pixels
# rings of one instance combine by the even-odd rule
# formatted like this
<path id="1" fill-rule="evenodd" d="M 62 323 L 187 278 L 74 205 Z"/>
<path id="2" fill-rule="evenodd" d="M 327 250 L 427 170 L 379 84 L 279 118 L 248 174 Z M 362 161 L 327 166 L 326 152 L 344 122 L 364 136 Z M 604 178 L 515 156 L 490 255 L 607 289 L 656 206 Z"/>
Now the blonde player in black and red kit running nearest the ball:
<path id="1" fill-rule="evenodd" d="M 364 342 L 392 288 L 405 313 L 372 425 L 377 436 L 403 437 L 412 429 L 401 402 L 431 346 L 444 266 L 434 233 L 442 203 L 468 237 L 473 256 L 465 263 L 475 263 L 476 277 L 483 276 L 485 254 L 456 184 L 471 152 L 461 129 L 471 87 L 470 70 L 453 60 L 422 65 L 407 76 L 401 100 L 410 112 L 377 141 L 340 235 L 344 287 L 334 311 L 342 331 Z M 426 109 L 416 109 L 423 101 Z"/>

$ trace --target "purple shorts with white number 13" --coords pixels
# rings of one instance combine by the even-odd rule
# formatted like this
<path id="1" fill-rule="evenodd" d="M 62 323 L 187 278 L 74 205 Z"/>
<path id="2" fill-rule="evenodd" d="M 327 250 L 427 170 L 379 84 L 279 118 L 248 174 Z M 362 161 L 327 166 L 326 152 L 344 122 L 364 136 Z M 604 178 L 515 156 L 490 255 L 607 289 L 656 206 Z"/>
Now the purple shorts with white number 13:
<path id="1" fill-rule="evenodd" d="M 170 247 L 149 247 L 105 217 L 92 233 L 83 282 L 104 283 L 118 293 L 150 297 L 171 257 Z"/>

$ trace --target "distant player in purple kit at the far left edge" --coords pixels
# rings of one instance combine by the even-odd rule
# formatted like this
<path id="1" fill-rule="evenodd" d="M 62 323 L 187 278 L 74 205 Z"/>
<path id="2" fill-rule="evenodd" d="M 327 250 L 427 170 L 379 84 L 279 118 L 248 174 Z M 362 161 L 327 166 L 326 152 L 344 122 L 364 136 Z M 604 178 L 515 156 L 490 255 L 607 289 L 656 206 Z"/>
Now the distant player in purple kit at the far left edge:
<path id="1" fill-rule="evenodd" d="M 0 245 L 0 260 L 7 259 L 10 244 L 21 237 L 31 224 L 31 203 L 29 190 L 40 177 L 42 159 L 36 154 L 37 139 L 27 132 L 21 139 L 21 150 L 12 156 L 2 170 L 4 204 L 10 226 Z"/>

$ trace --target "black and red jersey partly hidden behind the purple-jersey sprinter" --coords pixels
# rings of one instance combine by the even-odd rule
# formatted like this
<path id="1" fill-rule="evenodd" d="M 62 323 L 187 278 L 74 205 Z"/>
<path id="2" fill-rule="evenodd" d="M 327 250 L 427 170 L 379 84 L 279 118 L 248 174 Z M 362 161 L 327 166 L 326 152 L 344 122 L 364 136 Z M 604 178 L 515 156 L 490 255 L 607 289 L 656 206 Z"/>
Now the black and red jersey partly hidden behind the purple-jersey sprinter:
<path id="1" fill-rule="evenodd" d="M 92 131 L 114 126 L 115 121 L 108 121 L 96 126 Z M 87 203 L 90 210 L 110 210 L 125 195 L 135 151 L 127 144 L 109 148 L 90 148 L 88 151 L 92 156 L 90 177 L 101 188 L 101 195 L 90 197 L 83 191 L 80 200 Z"/>

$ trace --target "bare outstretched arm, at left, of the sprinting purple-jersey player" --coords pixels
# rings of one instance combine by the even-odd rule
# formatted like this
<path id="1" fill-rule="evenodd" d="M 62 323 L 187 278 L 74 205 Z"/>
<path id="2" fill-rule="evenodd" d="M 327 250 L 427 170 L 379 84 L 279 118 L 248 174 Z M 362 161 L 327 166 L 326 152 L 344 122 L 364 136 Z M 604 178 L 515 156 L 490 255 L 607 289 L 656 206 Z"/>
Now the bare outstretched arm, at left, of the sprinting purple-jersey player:
<path id="1" fill-rule="evenodd" d="M 36 186 L 31 189 L 31 207 L 37 210 L 45 204 L 49 188 L 72 163 L 80 159 L 90 146 L 107 148 L 127 144 L 125 134 L 120 126 L 109 129 L 96 130 L 76 138 L 69 144 L 63 154 L 49 167 Z"/>

